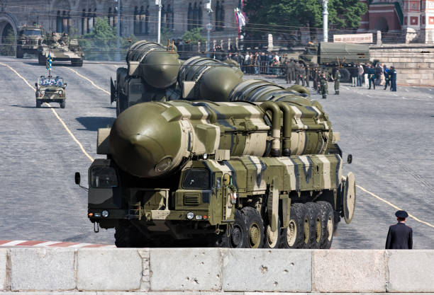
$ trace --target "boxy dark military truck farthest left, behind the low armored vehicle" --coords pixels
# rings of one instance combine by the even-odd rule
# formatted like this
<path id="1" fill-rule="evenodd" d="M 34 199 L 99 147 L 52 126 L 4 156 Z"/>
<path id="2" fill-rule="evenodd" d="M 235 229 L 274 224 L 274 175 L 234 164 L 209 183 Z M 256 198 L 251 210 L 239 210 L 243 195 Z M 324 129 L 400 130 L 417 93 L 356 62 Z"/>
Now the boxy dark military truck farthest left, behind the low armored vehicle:
<path id="1" fill-rule="evenodd" d="M 16 57 L 22 59 L 25 53 L 39 54 L 39 47 L 44 44 L 45 32 L 40 25 L 24 25 L 18 29 Z"/>

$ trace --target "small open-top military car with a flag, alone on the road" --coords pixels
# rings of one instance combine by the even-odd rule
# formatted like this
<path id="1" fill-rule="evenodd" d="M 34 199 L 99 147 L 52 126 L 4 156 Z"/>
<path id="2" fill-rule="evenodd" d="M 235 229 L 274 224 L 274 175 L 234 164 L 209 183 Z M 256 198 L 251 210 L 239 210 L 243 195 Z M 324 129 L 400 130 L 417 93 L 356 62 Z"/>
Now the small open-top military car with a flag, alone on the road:
<path id="1" fill-rule="evenodd" d="M 40 76 L 35 86 L 36 108 L 40 108 L 43 103 L 60 103 L 60 108 L 65 108 L 67 83 L 63 78 Z"/>

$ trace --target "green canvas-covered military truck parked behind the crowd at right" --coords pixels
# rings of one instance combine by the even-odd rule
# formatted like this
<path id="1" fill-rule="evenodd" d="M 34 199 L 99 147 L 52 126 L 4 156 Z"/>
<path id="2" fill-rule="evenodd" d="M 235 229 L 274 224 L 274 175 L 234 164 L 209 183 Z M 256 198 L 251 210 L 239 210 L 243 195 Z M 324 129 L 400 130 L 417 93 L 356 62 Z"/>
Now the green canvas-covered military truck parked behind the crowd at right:
<path id="1" fill-rule="evenodd" d="M 318 64 L 328 69 L 329 74 L 332 74 L 335 67 L 339 67 L 340 81 L 349 82 L 351 80 L 350 72 L 357 72 L 357 64 L 368 64 L 370 62 L 369 46 L 365 44 L 321 42 L 318 47 L 315 45 L 307 46 L 303 54 L 299 55 L 299 61 L 310 66 Z"/>

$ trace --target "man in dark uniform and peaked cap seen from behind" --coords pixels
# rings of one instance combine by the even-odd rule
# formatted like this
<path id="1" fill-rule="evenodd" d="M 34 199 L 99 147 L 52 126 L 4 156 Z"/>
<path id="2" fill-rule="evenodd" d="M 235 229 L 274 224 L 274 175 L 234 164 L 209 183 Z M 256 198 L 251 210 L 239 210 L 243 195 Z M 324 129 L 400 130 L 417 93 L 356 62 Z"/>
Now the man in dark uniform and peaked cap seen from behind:
<path id="1" fill-rule="evenodd" d="M 398 223 L 389 227 L 387 233 L 386 249 L 412 249 L 413 229 L 406 226 L 407 212 L 399 210 L 395 213 Z"/>

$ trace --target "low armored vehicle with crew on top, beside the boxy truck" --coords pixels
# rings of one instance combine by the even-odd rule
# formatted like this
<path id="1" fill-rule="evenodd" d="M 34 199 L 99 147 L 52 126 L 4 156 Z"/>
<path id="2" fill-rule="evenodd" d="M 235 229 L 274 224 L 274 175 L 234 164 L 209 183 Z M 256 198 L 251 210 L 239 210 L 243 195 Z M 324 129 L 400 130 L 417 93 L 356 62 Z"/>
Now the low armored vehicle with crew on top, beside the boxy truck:
<path id="1" fill-rule="evenodd" d="M 77 39 L 70 39 L 66 33 L 47 34 L 45 43 L 39 47 L 38 62 L 45 65 L 48 54 L 53 62 L 70 61 L 72 66 L 83 66 L 84 52 Z"/>

